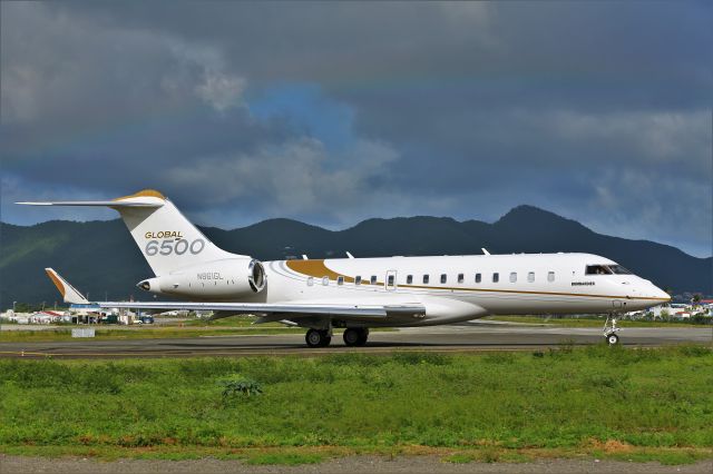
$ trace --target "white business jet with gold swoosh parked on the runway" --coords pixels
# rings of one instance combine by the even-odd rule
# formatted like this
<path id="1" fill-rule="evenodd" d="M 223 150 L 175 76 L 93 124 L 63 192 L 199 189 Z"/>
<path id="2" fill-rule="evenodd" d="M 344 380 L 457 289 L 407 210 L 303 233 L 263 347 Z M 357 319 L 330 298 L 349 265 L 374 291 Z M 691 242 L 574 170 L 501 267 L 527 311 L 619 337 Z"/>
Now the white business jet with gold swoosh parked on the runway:
<path id="1" fill-rule="evenodd" d="M 490 255 L 484 249 L 485 255 L 471 256 L 262 263 L 216 247 L 155 190 L 108 201 L 19 204 L 117 210 L 155 274 L 137 286 L 183 299 L 99 303 L 102 307 L 253 314 L 258 323 L 307 328 L 310 347 L 328 346 L 335 327 L 345 328 L 348 346 L 359 346 L 371 327 L 432 326 L 494 314 L 614 315 L 671 299 L 651 282 L 592 254 Z M 618 342 L 617 330 L 615 322 L 605 325 L 609 344 Z"/>

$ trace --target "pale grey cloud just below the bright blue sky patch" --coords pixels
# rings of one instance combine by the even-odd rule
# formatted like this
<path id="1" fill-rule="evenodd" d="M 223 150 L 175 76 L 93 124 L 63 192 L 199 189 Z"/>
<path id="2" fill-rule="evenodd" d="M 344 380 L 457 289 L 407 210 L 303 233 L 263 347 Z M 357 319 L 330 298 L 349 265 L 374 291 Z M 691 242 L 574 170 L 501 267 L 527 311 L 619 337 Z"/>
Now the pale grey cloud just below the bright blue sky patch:
<path id="1" fill-rule="evenodd" d="M 207 157 L 174 168 L 167 181 L 189 186 L 208 206 L 250 201 L 268 213 L 333 215 L 361 208 L 383 197 L 370 180 L 398 159 L 388 145 L 358 140 L 340 156 L 303 137 L 256 154 Z"/>

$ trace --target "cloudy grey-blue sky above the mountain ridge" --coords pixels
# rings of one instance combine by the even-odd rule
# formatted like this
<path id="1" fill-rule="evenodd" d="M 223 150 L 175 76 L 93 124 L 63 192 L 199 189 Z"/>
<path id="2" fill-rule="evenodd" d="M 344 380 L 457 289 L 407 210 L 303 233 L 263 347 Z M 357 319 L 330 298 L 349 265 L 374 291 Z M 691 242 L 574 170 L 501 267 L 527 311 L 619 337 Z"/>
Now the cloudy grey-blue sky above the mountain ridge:
<path id="1" fill-rule="evenodd" d="M 494 221 L 712 253 L 713 3 L 1 2 L 1 218 Z M 526 231 L 526 230 L 524 230 Z"/>

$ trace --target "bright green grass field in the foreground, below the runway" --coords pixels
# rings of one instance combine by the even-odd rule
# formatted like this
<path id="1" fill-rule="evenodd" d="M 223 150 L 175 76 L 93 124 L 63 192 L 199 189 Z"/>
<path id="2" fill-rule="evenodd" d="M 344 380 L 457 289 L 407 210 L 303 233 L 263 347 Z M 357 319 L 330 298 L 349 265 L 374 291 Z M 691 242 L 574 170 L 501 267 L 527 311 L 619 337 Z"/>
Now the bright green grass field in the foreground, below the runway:
<path id="1" fill-rule="evenodd" d="M 255 381 L 262 394 L 224 396 Z M 0 451 L 319 462 L 713 457 L 713 354 L 544 353 L 119 362 L 0 361 Z"/>

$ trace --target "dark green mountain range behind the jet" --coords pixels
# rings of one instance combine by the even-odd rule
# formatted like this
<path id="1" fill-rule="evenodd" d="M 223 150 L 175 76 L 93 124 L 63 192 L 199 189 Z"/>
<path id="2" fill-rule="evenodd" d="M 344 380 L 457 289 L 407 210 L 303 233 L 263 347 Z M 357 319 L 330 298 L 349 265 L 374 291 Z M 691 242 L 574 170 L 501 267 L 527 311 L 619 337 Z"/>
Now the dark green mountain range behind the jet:
<path id="1" fill-rule="evenodd" d="M 0 307 L 13 300 L 59 299 L 43 268 L 52 267 L 91 299 L 149 296 L 135 284 L 150 269 L 120 220 L 52 220 L 35 226 L 0 224 Z M 290 219 L 270 219 L 233 230 L 203 231 L 216 245 L 261 260 L 301 257 L 467 255 L 585 251 L 612 258 L 662 288 L 713 294 L 713 259 L 675 247 L 596 234 L 531 206 L 519 206 L 494 224 L 451 218 L 369 219 L 344 230 L 326 230 Z"/>

